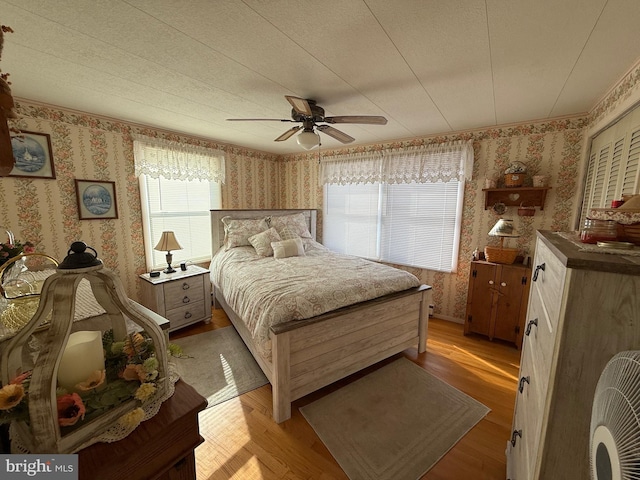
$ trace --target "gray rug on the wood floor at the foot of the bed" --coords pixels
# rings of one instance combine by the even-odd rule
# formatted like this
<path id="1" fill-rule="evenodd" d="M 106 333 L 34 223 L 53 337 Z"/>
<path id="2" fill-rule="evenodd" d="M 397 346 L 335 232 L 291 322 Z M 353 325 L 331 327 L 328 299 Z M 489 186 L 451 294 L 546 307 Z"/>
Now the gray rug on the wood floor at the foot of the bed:
<path id="1" fill-rule="evenodd" d="M 489 408 L 406 358 L 300 411 L 352 480 L 415 480 Z"/>

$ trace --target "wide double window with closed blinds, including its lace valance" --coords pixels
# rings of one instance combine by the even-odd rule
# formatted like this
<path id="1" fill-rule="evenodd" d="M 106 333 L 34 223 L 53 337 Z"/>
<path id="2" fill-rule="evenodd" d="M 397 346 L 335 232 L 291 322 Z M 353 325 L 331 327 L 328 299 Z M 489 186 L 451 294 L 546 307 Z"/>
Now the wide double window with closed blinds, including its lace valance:
<path id="1" fill-rule="evenodd" d="M 455 272 L 464 172 L 473 164 L 471 145 L 457 146 L 457 155 L 403 151 L 325 167 L 324 244 L 372 260 Z"/>

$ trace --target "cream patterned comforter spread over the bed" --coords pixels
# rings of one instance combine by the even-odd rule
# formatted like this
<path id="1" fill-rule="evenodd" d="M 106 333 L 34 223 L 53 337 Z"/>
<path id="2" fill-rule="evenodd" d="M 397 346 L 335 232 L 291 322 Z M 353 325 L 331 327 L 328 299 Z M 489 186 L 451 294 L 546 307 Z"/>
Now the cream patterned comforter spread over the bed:
<path id="1" fill-rule="evenodd" d="M 409 272 L 331 252 L 303 239 L 305 256 L 261 257 L 253 247 L 221 249 L 211 280 L 244 320 L 260 354 L 271 358 L 269 327 L 420 285 Z"/>

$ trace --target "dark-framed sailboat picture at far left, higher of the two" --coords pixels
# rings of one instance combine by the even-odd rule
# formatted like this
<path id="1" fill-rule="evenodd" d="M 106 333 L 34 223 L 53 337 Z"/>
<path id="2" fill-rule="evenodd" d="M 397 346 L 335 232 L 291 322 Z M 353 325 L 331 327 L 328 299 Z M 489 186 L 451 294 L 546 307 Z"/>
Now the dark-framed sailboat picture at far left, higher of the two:
<path id="1" fill-rule="evenodd" d="M 46 133 L 20 132 L 11 136 L 14 166 L 10 177 L 56 178 L 51 137 Z"/>

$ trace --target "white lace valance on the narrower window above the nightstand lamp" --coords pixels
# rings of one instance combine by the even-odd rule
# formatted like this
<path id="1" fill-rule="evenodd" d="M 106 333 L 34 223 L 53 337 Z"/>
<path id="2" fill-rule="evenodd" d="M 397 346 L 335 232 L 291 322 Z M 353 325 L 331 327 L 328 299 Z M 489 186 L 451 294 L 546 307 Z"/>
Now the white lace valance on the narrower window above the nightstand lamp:
<path id="1" fill-rule="evenodd" d="M 224 183 L 224 152 L 169 140 L 133 136 L 135 174 L 168 180 Z"/>

